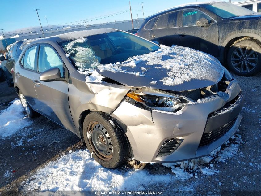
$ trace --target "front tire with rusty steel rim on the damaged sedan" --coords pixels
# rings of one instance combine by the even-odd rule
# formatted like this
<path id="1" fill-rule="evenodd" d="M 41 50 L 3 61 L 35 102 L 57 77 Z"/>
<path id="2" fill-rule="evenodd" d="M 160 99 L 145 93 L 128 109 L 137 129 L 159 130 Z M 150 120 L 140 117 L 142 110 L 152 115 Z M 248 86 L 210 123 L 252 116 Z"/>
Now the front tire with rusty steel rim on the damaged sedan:
<path id="1" fill-rule="evenodd" d="M 106 168 L 116 168 L 129 156 L 128 144 L 120 128 L 101 112 L 93 111 L 83 122 L 83 137 L 93 158 Z"/>

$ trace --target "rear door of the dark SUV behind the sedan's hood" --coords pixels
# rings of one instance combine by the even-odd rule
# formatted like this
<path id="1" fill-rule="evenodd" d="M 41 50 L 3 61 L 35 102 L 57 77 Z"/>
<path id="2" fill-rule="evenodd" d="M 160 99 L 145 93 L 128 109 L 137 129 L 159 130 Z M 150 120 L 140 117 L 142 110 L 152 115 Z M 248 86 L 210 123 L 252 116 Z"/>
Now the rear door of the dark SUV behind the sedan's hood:
<path id="1" fill-rule="evenodd" d="M 178 11 L 158 16 L 149 32 L 149 40 L 166 46 L 178 45 L 177 16 Z"/>

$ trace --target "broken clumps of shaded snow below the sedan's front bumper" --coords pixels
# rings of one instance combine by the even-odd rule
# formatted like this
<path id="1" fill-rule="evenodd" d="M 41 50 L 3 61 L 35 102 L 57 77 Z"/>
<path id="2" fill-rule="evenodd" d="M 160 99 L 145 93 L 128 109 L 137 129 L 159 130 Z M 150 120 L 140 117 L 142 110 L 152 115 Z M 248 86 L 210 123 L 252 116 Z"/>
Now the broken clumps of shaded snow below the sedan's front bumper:
<path id="1" fill-rule="evenodd" d="M 211 152 L 210 156 L 177 163 L 162 163 L 162 165 L 170 167 L 171 171 L 175 173 L 176 177 L 181 176 L 184 179 L 192 177 L 193 174 L 197 178 L 198 172 L 202 172 L 205 175 L 214 175 L 220 171 L 213 168 L 213 164 L 208 165 L 208 163 L 210 161 L 213 161 L 213 163 L 225 162 L 226 159 L 237 155 L 240 143 L 244 143 L 241 138 L 242 136 L 239 134 L 236 134 L 236 137 L 232 136 L 231 139 L 235 139 L 234 143 L 227 141 L 226 147 L 223 150 L 221 150 L 221 147 L 219 147 Z"/>

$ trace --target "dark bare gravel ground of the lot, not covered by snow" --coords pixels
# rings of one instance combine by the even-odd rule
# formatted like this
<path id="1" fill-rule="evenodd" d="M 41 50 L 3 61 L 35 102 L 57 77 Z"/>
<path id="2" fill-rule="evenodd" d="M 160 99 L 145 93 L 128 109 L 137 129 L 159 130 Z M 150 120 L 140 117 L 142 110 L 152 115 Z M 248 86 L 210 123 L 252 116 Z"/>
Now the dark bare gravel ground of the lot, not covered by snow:
<path id="1" fill-rule="evenodd" d="M 211 176 L 198 175 L 176 184 L 163 184 L 149 187 L 150 190 L 170 190 L 173 187 L 192 185 L 194 190 L 211 193 L 212 191 L 255 191 L 261 190 L 261 73 L 254 77 L 234 76 L 238 79 L 244 94 L 242 122 L 238 134 L 243 143 L 238 155 L 224 163 L 210 162 L 220 172 Z M 6 109 L 8 103 L 17 97 L 13 88 L 0 83 L 0 110 Z M 32 180 L 32 175 L 53 160 L 69 154 L 69 151 L 84 149 L 80 139 L 70 131 L 53 123 L 43 116 L 32 120 L 31 125 L 24 127 L 9 137 L 0 137 L 0 195 L 25 194 L 23 187 Z M 126 163 L 129 170 L 134 170 Z M 171 168 L 162 164 L 147 165 L 149 174 L 175 174 Z M 203 176 L 203 177 L 202 177 Z M 196 194 L 196 193 L 194 193 Z M 249 193 L 246 193 L 246 195 Z M 231 195 L 231 194 L 228 194 Z"/>

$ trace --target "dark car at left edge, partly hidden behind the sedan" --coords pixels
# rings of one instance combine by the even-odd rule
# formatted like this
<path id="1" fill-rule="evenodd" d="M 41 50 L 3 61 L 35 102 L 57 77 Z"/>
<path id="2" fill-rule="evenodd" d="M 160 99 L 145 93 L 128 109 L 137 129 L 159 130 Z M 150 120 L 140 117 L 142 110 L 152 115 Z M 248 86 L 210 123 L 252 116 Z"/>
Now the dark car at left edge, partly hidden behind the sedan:
<path id="1" fill-rule="evenodd" d="M 1 61 L 1 72 L 4 76 L 6 83 L 9 87 L 14 85 L 13 76 L 12 76 L 12 68 L 14 67 L 16 61 L 18 60 L 19 55 L 22 50 L 19 49 L 24 41 L 16 41 L 10 48 L 8 54 L 5 56 L 0 56 Z"/>

